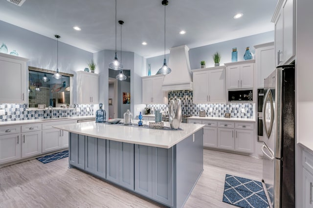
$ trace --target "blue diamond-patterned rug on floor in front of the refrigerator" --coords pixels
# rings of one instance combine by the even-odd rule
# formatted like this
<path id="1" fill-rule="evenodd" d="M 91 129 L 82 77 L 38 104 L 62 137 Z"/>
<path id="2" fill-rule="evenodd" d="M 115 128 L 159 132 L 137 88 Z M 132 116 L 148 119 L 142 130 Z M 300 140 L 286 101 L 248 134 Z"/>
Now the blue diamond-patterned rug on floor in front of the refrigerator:
<path id="1" fill-rule="evenodd" d="M 262 183 L 226 174 L 223 202 L 241 208 L 268 208 Z"/>

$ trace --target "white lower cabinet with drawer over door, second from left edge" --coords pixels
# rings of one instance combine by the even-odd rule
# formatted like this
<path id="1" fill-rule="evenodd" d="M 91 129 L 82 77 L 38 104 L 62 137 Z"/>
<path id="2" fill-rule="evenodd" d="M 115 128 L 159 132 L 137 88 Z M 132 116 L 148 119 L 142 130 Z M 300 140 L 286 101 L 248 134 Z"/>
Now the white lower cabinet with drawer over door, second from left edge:
<path id="1" fill-rule="evenodd" d="M 22 157 L 42 153 L 42 125 L 22 125 Z"/>

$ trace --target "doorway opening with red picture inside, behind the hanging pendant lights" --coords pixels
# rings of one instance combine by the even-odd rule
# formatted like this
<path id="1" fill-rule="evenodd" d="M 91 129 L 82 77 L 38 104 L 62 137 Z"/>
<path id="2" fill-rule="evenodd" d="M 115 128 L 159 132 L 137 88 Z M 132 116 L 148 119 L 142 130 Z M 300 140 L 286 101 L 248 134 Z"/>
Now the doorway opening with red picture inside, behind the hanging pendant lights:
<path id="1" fill-rule="evenodd" d="M 115 76 L 119 74 L 119 71 L 109 69 L 109 113 L 107 119 L 123 118 L 127 109 L 131 109 L 131 70 L 123 70 L 123 73 L 127 78 L 118 81 Z M 129 98 L 127 102 L 125 102 L 125 95 Z"/>

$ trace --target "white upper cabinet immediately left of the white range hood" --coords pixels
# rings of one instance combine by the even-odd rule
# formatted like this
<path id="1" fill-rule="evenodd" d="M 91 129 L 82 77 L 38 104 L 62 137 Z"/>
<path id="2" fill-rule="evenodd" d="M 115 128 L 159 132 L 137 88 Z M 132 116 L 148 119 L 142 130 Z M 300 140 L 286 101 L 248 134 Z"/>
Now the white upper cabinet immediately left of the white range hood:
<path id="1" fill-rule="evenodd" d="M 162 91 L 164 75 L 143 76 L 142 80 L 142 103 L 162 104 L 167 103 L 167 93 Z"/>

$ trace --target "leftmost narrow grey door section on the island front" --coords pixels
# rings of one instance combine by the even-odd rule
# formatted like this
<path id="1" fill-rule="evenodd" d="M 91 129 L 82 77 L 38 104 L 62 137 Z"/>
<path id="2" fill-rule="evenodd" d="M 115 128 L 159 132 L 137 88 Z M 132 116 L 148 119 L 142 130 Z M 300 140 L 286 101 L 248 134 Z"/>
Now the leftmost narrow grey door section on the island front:
<path id="1" fill-rule="evenodd" d="M 85 169 L 85 136 L 70 133 L 68 163 L 80 169 Z"/>

